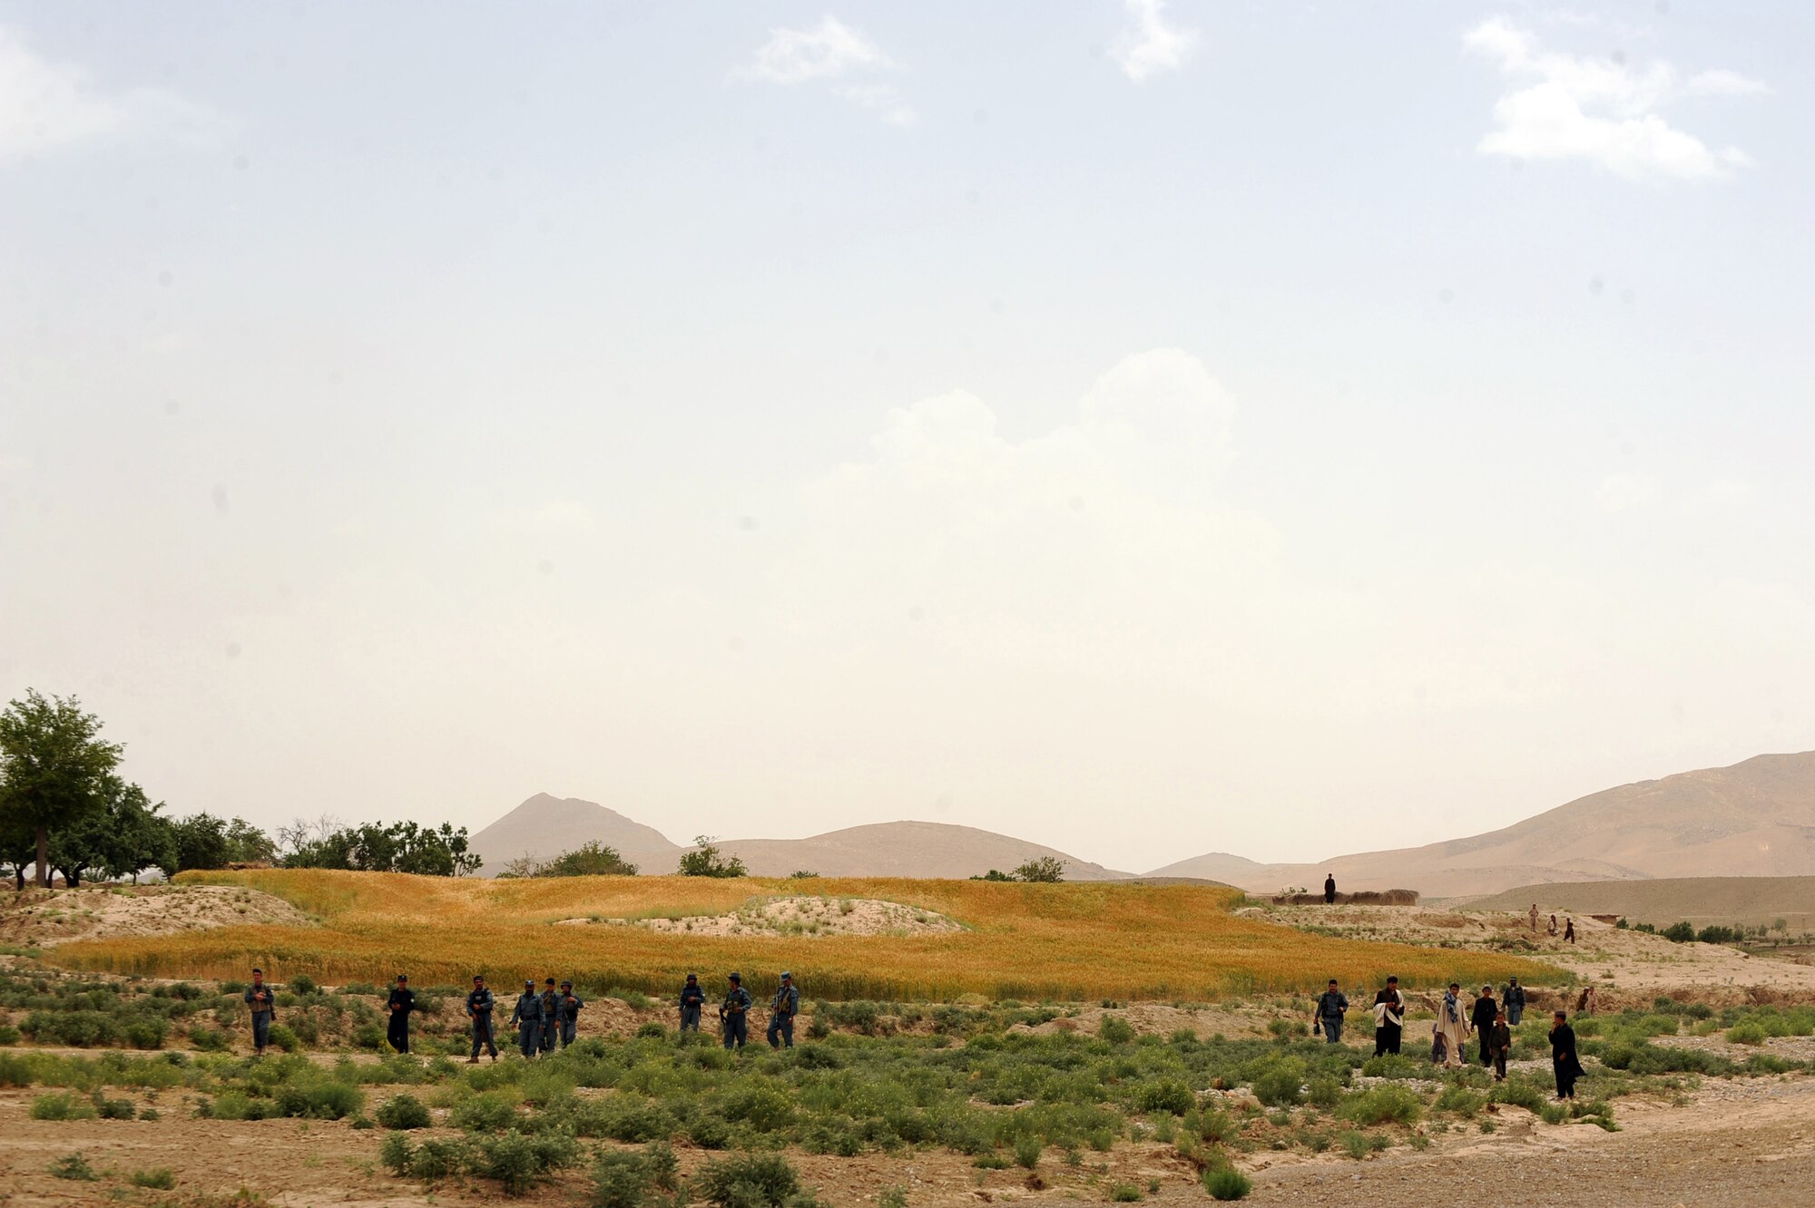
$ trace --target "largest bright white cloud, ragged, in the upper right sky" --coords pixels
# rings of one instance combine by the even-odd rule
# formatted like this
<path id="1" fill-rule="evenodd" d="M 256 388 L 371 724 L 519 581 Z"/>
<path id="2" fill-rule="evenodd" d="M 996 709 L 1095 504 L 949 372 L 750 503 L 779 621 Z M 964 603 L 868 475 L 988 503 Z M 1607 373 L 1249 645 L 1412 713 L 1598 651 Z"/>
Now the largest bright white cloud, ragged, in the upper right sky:
<path id="1" fill-rule="evenodd" d="M 1683 83 L 1664 62 L 1635 71 L 1617 58 L 1546 51 L 1535 34 L 1505 16 L 1468 31 L 1463 45 L 1494 60 L 1508 80 L 1521 82 L 1494 105 L 1494 129 L 1476 147 L 1481 154 L 1588 160 L 1634 180 L 1710 180 L 1751 163 L 1737 147 L 1713 151 L 1659 112 L 1688 93 L 1742 96 L 1762 91 L 1737 73 L 1704 71 Z"/>

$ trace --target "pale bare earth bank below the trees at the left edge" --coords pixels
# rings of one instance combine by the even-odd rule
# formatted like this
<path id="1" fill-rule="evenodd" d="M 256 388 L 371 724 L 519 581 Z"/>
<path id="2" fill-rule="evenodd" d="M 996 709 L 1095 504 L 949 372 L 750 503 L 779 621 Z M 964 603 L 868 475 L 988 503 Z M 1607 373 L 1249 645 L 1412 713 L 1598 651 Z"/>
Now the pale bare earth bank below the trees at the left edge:
<path id="1" fill-rule="evenodd" d="M 312 927 L 283 898 L 232 885 L 96 885 L 0 896 L 0 943 L 167 936 L 241 923 Z"/>

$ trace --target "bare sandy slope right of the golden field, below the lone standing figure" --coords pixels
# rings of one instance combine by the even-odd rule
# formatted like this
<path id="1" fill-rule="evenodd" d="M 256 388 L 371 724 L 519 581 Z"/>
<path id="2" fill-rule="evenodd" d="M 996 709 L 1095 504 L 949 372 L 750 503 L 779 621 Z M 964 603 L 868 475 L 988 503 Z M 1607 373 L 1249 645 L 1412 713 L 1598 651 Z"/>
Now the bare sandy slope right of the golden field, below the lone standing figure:
<path id="1" fill-rule="evenodd" d="M 1548 934 L 1525 914 L 1445 907 L 1245 907 L 1241 914 L 1356 940 L 1494 949 L 1574 970 L 1597 987 L 1603 1008 L 1648 1007 L 1659 994 L 1713 1007 L 1766 1001 L 1815 1001 L 1815 965 L 1750 956 L 1719 943 L 1672 943 L 1575 918 L 1575 943 Z M 1561 930 L 1565 914 L 1557 914 Z M 1539 1005 L 1539 1003 L 1534 1003 Z M 1548 1003 L 1541 1003 L 1548 1005 Z M 1574 1007 L 1574 1001 L 1570 1003 Z"/>

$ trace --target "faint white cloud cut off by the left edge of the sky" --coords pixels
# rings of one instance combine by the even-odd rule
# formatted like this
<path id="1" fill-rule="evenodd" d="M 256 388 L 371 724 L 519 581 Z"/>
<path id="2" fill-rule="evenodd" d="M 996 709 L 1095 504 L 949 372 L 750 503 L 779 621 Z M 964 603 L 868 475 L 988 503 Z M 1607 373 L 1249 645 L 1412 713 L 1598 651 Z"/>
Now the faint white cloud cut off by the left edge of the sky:
<path id="1" fill-rule="evenodd" d="M 214 112 L 165 89 L 107 93 L 85 69 L 38 56 L 0 25 L 0 165 L 89 141 L 212 138 L 220 129 Z"/>

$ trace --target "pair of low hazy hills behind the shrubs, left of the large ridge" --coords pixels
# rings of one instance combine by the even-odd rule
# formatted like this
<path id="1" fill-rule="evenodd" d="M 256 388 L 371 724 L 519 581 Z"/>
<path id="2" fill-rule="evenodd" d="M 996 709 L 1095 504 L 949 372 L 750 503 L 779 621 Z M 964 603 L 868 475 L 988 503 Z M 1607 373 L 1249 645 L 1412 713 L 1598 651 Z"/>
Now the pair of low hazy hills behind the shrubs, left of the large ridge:
<path id="1" fill-rule="evenodd" d="M 681 854 L 692 851 L 615 809 L 548 793 L 537 793 L 474 834 L 470 847 L 485 860 L 481 874 L 497 876 L 519 856 L 548 860 L 588 842 L 615 847 L 646 876 L 673 872 Z M 1056 847 L 944 822 L 878 822 L 799 840 L 721 840 L 719 849 L 741 858 L 753 876 L 788 876 L 806 871 L 820 876 L 962 880 L 982 876 L 989 869 L 1007 872 L 1042 856 L 1064 860 L 1065 880 L 1073 882 L 1131 876 Z"/>

